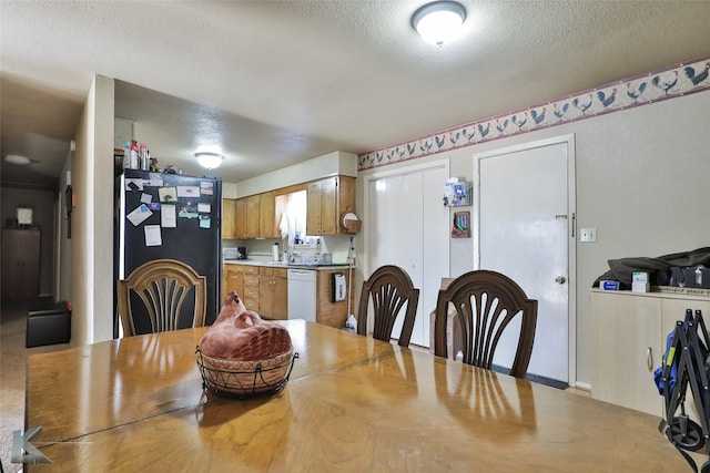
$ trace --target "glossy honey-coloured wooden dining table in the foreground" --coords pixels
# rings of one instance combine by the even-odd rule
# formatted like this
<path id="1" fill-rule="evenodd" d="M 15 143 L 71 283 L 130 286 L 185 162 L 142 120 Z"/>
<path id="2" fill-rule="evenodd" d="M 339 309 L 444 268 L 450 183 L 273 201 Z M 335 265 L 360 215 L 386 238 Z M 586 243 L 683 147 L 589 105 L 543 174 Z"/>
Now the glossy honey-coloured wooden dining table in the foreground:
<path id="1" fill-rule="evenodd" d="M 31 354 L 29 472 L 684 472 L 660 418 L 305 320 L 285 387 L 203 385 L 206 327 Z M 650 382 L 650 381 L 649 381 Z"/>

